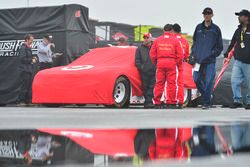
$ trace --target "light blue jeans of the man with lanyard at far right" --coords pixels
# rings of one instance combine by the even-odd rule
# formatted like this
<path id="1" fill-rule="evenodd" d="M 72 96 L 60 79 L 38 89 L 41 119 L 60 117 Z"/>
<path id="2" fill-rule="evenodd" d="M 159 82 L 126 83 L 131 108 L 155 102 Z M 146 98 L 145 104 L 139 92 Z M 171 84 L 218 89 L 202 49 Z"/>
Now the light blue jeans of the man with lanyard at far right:
<path id="1" fill-rule="evenodd" d="M 235 103 L 242 103 L 241 84 L 247 84 L 247 104 L 250 104 L 250 64 L 235 60 L 231 76 L 231 86 Z"/>

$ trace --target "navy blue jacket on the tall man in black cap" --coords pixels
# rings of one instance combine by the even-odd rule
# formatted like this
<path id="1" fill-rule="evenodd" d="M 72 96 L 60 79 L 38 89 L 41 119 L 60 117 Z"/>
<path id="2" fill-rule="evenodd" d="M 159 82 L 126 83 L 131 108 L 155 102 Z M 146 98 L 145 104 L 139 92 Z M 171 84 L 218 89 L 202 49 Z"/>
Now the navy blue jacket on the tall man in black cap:
<path id="1" fill-rule="evenodd" d="M 220 28 L 212 23 L 209 27 L 202 22 L 198 24 L 194 36 L 191 55 L 199 64 L 215 63 L 223 50 Z"/>

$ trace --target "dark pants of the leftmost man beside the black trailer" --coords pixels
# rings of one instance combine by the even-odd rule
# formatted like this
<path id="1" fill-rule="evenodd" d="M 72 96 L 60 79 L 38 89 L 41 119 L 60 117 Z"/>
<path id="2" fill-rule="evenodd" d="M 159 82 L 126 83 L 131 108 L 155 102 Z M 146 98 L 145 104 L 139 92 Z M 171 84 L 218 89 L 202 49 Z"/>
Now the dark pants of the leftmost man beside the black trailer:
<path id="1" fill-rule="evenodd" d="M 21 90 L 19 95 L 19 102 L 31 103 L 32 100 L 32 73 L 21 73 Z"/>

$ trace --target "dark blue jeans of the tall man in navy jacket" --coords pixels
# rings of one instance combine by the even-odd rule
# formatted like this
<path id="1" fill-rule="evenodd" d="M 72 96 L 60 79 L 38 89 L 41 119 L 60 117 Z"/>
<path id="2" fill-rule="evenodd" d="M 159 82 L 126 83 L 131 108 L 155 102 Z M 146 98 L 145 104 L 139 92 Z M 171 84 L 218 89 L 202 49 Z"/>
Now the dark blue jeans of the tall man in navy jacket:
<path id="1" fill-rule="evenodd" d="M 194 71 L 193 79 L 198 91 L 201 93 L 203 105 L 211 105 L 214 78 L 215 63 L 201 64 L 199 71 Z"/>

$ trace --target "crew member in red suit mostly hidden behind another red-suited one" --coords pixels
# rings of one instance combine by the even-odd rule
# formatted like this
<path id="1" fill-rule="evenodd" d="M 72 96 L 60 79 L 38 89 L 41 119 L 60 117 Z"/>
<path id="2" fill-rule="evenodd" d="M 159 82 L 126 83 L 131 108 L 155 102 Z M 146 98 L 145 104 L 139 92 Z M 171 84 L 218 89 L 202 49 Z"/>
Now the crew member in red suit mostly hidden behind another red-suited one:
<path id="1" fill-rule="evenodd" d="M 176 34 L 176 38 L 181 42 L 181 46 L 184 54 L 184 61 L 189 57 L 189 43 L 181 35 L 181 26 L 179 24 L 173 25 L 173 31 Z M 184 103 L 184 80 L 183 80 L 183 65 L 178 66 L 178 93 L 177 93 L 177 102 L 180 108 L 183 107 Z"/>

